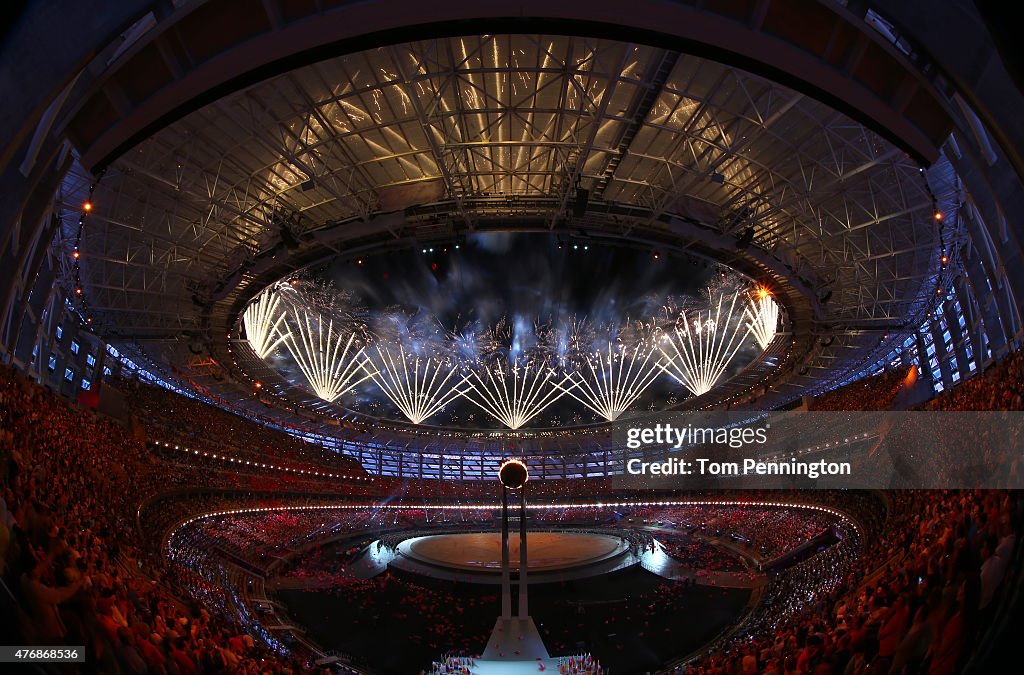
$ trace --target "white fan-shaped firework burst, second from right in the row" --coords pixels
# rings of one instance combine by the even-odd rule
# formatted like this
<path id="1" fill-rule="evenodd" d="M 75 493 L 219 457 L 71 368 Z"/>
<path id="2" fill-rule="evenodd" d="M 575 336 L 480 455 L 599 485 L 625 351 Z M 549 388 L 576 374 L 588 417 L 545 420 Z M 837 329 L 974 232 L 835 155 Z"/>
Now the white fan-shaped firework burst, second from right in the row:
<path id="1" fill-rule="evenodd" d="M 718 296 L 718 304 L 708 309 L 706 318 L 699 311 L 693 312 L 692 319 L 683 312 L 673 333 L 664 333 L 658 344 L 665 356 L 665 371 L 694 396 L 712 390 L 742 346 L 745 337 L 742 329 L 750 331 L 742 322 L 732 321 L 736 295 L 733 294 L 724 317 L 723 298 Z"/>

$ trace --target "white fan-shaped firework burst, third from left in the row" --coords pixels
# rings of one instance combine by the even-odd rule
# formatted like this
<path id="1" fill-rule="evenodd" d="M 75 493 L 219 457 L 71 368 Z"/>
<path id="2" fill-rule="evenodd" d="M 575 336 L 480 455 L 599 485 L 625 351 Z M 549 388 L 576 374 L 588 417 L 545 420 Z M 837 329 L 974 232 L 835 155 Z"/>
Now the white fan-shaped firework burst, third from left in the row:
<path id="1" fill-rule="evenodd" d="M 446 360 L 410 353 L 400 345 L 397 354 L 379 344 L 376 351 L 377 358 L 368 358 L 364 367 L 369 372 L 379 366 L 371 377 L 413 424 L 422 423 L 461 394 L 459 387 L 467 377 L 460 378 Z"/>

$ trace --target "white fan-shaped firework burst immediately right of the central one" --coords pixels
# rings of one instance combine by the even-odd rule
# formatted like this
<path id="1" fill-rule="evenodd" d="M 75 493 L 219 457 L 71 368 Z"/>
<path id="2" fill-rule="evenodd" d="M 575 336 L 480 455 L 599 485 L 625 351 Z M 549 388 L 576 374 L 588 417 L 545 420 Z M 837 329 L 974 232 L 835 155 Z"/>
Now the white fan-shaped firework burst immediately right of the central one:
<path id="1" fill-rule="evenodd" d="M 662 373 L 659 362 L 654 349 L 643 343 L 630 350 L 609 343 L 607 352 L 595 351 L 587 357 L 586 366 L 572 375 L 575 390 L 565 393 L 612 422 L 657 379 Z"/>

